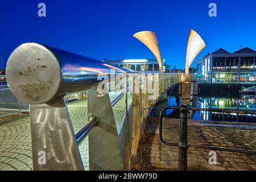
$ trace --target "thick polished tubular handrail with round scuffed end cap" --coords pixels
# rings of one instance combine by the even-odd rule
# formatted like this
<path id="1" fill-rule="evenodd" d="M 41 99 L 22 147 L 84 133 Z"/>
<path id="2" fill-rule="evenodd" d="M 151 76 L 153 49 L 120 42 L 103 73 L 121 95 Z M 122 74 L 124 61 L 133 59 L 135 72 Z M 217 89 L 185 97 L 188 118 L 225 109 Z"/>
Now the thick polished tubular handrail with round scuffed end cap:
<path id="1" fill-rule="evenodd" d="M 102 81 L 99 78 L 108 77 L 113 70 L 114 74 L 134 73 L 90 57 L 37 43 L 25 43 L 11 53 L 6 78 L 11 91 L 20 100 L 44 104 L 69 92 L 90 89 Z"/>

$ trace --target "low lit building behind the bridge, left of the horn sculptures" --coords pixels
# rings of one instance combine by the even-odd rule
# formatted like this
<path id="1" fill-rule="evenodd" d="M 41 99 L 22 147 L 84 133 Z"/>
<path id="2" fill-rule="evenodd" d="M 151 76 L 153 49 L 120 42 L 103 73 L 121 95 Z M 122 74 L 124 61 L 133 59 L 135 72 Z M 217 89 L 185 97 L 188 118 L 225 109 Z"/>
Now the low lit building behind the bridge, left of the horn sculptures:
<path id="1" fill-rule="evenodd" d="M 159 73 L 159 64 L 156 59 L 126 59 L 126 60 L 102 60 L 106 63 L 118 65 L 138 72 Z M 163 72 L 165 60 L 162 60 Z"/>

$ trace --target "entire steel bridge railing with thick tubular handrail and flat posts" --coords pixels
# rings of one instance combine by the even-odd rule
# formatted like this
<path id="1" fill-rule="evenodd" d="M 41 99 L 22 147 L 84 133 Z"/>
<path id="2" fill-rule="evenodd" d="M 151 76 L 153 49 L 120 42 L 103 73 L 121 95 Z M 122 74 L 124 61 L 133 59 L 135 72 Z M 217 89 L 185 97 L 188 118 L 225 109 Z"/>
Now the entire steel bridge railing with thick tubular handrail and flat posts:
<path id="1" fill-rule="evenodd" d="M 115 75 L 137 73 L 36 43 L 22 44 L 15 49 L 7 64 L 6 75 L 14 95 L 31 104 L 34 170 L 83 170 L 78 145 L 86 136 L 90 170 L 130 169 L 150 107 L 161 99 L 169 86 L 183 81 L 184 74 L 138 73 L 131 77 L 131 85 L 127 84 L 126 78 L 125 90 L 110 101 L 109 93 L 99 93 L 97 86 L 102 81 L 98 77 L 109 78 L 112 69 Z M 148 93 L 142 93 L 148 83 L 156 87 L 156 97 L 151 99 Z M 135 92 L 138 85 L 139 93 Z M 88 94 L 89 121 L 74 133 L 64 97 L 82 90 L 87 90 Z M 130 105 L 127 103 L 128 90 L 133 90 Z M 118 106 L 123 97 L 125 115 L 118 129 L 113 107 Z M 47 154 L 43 165 L 38 163 L 38 154 L 42 151 Z"/>

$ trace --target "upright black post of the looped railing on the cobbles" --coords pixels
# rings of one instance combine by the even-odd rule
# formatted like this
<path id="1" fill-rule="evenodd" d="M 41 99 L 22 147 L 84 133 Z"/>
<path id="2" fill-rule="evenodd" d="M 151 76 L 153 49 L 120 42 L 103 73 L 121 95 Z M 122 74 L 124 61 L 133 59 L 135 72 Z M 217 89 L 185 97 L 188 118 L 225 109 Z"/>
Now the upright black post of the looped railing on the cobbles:
<path id="1" fill-rule="evenodd" d="M 187 171 L 188 151 L 188 105 L 180 106 L 180 137 L 179 137 L 179 166 L 178 171 Z"/>

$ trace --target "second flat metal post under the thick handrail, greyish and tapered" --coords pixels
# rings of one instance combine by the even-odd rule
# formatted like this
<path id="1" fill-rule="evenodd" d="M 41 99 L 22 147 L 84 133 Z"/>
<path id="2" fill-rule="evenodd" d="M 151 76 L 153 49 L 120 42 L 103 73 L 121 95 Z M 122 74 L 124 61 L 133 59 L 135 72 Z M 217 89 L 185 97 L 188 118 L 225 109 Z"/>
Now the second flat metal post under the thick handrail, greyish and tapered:
<path id="1" fill-rule="evenodd" d="M 88 117 L 95 115 L 100 122 L 89 133 L 89 169 L 123 170 L 121 148 L 109 94 L 88 90 Z"/>

